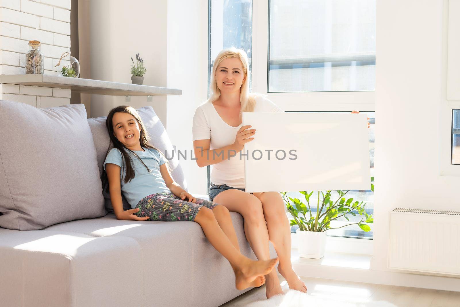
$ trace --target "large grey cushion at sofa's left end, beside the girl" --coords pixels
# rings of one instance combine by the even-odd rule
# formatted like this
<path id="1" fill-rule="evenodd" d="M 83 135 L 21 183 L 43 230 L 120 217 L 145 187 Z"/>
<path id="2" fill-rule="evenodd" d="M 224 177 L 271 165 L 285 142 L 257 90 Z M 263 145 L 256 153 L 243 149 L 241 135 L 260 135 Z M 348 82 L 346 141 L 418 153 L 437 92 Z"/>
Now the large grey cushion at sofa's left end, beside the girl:
<path id="1" fill-rule="evenodd" d="M 39 109 L 0 100 L 0 226 L 39 230 L 104 216 L 83 104 Z"/>

